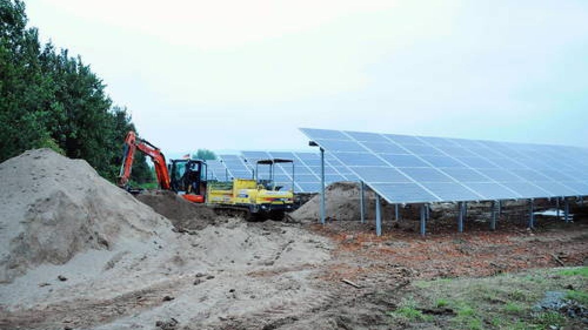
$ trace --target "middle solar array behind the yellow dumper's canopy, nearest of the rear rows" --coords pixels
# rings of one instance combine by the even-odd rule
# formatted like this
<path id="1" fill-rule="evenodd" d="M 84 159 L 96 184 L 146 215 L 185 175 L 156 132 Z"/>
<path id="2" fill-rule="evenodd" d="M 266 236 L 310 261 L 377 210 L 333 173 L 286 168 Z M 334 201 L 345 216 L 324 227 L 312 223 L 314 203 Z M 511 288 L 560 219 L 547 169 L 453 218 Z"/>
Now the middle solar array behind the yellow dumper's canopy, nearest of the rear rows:
<path id="1" fill-rule="evenodd" d="M 294 190 L 300 193 L 317 193 L 320 191 L 320 155 L 313 152 L 298 151 L 241 151 L 250 169 L 255 169 L 260 159 L 292 159 L 294 161 Z M 260 169 L 262 171 L 262 169 Z M 292 167 L 289 164 L 276 164 L 275 180 L 280 186 L 292 185 Z M 268 176 L 262 172 L 260 177 Z M 355 175 L 334 158 L 325 160 L 325 182 L 356 181 Z"/>

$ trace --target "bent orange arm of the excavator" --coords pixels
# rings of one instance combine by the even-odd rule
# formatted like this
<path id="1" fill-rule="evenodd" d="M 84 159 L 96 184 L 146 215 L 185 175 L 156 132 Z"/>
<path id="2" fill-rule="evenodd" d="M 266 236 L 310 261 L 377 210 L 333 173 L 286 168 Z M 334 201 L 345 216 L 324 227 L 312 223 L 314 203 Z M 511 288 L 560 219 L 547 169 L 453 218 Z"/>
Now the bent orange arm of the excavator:
<path id="1" fill-rule="evenodd" d="M 119 185 L 124 187 L 129 182 L 131 177 L 131 170 L 133 166 L 133 159 L 135 157 L 135 150 L 139 149 L 142 153 L 151 157 L 153 165 L 155 166 L 155 174 L 157 181 L 162 189 L 169 190 L 171 188 L 168 167 L 165 163 L 165 156 L 161 153 L 158 147 L 153 146 L 146 140 L 140 139 L 135 132 L 130 131 L 126 134 L 125 149 L 122 159 L 121 171 L 119 173 Z"/>

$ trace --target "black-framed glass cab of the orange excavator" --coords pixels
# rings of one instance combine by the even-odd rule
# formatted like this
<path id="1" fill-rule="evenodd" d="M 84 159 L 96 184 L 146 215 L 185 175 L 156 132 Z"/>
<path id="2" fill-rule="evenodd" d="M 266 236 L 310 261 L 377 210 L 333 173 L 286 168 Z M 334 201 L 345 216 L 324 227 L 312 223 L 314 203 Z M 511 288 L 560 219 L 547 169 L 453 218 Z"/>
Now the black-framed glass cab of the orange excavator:
<path id="1" fill-rule="evenodd" d="M 173 191 L 186 200 L 204 203 L 206 195 L 206 161 L 172 159 L 168 165 Z"/>

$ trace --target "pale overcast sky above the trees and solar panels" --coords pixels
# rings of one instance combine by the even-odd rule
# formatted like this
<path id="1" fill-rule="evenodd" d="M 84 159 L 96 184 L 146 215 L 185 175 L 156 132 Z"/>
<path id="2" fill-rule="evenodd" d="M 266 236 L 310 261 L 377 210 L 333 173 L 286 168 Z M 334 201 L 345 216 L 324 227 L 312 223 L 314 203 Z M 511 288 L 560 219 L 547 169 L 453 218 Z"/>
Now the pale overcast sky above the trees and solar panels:
<path id="1" fill-rule="evenodd" d="M 298 127 L 588 141 L 588 1 L 25 1 L 169 153 Z"/>

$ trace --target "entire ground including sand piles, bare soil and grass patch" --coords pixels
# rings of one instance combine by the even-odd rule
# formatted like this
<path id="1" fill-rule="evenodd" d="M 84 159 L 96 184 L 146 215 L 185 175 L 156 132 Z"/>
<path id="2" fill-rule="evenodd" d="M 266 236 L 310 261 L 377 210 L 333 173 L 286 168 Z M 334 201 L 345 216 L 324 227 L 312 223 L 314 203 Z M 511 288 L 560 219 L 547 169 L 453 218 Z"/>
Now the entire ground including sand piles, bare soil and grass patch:
<path id="1" fill-rule="evenodd" d="M 576 204 L 573 223 L 527 230 L 510 203 L 496 231 L 473 205 L 465 233 L 436 206 L 425 238 L 403 208 L 376 237 L 350 184 L 330 189 L 339 202 L 318 225 L 316 200 L 289 223 L 210 218 L 169 194 L 146 196 L 151 208 L 48 150 L 0 164 L 0 179 L 0 329 L 573 328 L 588 305 L 584 268 L 549 270 L 586 265 Z M 572 307 L 534 311 L 549 292 Z"/>

